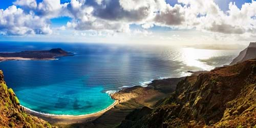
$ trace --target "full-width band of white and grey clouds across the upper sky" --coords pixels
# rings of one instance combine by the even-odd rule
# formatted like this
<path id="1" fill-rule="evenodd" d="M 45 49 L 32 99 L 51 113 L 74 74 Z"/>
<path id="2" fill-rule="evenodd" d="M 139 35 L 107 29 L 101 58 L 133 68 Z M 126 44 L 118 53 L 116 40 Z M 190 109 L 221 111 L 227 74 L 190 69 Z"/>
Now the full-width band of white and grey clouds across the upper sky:
<path id="1" fill-rule="evenodd" d="M 173 29 L 196 29 L 224 34 L 256 33 L 256 2 L 239 9 L 229 4 L 222 11 L 214 0 L 178 0 L 171 6 L 164 0 L 17 0 L 0 10 L 0 33 L 3 35 L 51 34 L 50 19 L 71 17 L 65 29 L 131 32 L 130 25 L 144 29 L 164 26 Z"/>

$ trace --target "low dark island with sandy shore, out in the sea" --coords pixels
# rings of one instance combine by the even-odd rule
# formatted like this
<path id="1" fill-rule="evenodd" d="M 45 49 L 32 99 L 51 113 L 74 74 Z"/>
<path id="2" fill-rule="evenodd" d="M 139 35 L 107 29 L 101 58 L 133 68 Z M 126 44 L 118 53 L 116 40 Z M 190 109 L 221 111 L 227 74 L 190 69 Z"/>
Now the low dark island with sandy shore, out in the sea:
<path id="1" fill-rule="evenodd" d="M 8 60 L 55 60 L 61 56 L 72 56 L 71 52 L 60 48 L 44 51 L 1 52 L 0 61 Z"/>

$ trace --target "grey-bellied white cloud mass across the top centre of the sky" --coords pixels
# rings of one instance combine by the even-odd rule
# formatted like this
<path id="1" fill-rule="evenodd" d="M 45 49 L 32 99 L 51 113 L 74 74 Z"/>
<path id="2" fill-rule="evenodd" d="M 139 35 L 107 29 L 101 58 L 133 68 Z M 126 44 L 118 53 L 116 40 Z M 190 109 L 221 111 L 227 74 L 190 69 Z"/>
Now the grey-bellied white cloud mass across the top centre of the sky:
<path id="1" fill-rule="evenodd" d="M 142 24 L 148 29 L 154 24 L 171 26 L 184 21 L 182 7 L 172 7 L 163 0 L 101 0 L 100 3 L 86 1 L 84 4 L 72 0 L 68 8 L 74 19 L 67 26 L 76 30 L 130 32 L 130 24 Z"/>

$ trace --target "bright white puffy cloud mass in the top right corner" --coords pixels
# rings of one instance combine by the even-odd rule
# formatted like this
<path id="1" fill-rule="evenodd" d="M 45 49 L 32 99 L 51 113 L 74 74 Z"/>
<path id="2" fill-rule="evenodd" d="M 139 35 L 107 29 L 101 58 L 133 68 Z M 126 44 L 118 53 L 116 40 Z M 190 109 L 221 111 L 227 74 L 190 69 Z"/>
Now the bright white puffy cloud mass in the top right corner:
<path id="1" fill-rule="evenodd" d="M 224 34 L 244 34 L 255 28 L 256 2 L 245 3 L 239 9 L 234 3 L 223 12 L 214 1 L 179 0 L 185 4 L 185 24 L 198 30 L 207 30 Z"/>

